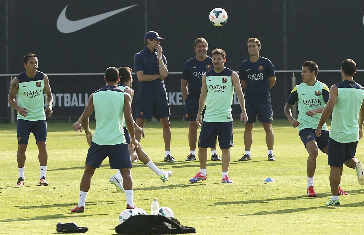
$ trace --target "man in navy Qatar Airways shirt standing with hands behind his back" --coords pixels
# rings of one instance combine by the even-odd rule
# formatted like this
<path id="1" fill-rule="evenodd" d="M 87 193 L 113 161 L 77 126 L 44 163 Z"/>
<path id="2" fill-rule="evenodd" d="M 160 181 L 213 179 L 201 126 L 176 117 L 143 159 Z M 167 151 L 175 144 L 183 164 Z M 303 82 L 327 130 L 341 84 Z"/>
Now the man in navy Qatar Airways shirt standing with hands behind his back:
<path id="1" fill-rule="evenodd" d="M 245 88 L 245 107 L 248 122 L 246 122 L 244 129 L 245 154 L 239 161 L 252 160 L 250 147 L 253 143 L 252 130 L 257 115 L 265 130 L 268 161 L 275 161 L 276 158 L 273 155 L 273 111 L 269 94 L 269 89 L 276 83 L 274 66 L 268 58 L 259 56 L 261 44 L 256 37 L 249 38 L 246 44 L 250 58 L 241 63 L 240 82 L 242 87 Z"/>

